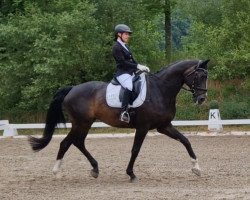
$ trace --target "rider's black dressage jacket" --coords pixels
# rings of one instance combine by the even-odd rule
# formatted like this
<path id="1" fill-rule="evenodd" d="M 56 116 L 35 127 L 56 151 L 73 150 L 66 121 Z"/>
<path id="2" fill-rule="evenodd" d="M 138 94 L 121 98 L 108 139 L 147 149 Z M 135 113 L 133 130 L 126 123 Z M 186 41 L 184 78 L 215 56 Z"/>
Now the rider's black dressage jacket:
<path id="1" fill-rule="evenodd" d="M 112 54 L 117 67 L 115 77 L 125 73 L 132 75 L 137 70 L 137 62 L 134 60 L 130 49 L 128 50 L 117 41 L 113 45 Z"/>

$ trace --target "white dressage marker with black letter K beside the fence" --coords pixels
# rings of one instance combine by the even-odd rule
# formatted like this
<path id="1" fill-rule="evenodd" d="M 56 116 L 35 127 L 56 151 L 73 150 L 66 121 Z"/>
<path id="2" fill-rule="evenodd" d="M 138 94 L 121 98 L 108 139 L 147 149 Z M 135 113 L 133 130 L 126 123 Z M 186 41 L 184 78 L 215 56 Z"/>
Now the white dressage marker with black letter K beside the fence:
<path id="1" fill-rule="evenodd" d="M 209 110 L 208 130 L 217 132 L 223 131 L 219 109 Z"/>

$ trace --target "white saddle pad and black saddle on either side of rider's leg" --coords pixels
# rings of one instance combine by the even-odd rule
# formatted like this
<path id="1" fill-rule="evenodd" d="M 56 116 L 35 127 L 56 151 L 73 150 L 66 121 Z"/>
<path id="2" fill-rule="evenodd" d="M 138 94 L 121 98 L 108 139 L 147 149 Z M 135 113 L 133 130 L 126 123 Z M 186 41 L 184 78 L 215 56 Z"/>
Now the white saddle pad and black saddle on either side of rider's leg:
<path id="1" fill-rule="evenodd" d="M 129 107 L 136 108 L 143 104 L 146 98 L 146 78 L 145 73 L 136 74 L 133 77 L 132 98 Z M 121 108 L 125 88 L 123 88 L 116 78 L 113 78 L 107 86 L 106 102 L 110 107 Z"/>

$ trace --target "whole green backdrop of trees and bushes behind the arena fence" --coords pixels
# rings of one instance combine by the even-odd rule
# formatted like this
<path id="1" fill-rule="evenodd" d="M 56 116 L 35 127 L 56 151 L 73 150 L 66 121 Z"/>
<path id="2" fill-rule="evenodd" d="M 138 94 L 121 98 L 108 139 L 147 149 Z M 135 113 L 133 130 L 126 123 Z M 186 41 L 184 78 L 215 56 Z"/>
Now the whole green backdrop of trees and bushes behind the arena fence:
<path id="1" fill-rule="evenodd" d="M 130 47 L 139 63 L 151 71 L 166 66 L 166 3 L 171 5 L 172 61 L 210 58 L 210 79 L 243 79 L 220 91 L 210 88 L 208 96 L 223 109 L 242 110 L 228 110 L 226 117 L 250 117 L 248 0 L 0 1 L 0 117 L 36 120 L 58 88 L 109 81 L 118 23 L 133 29 Z M 206 119 L 210 99 L 197 107 L 189 94 L 181 93 L 177 119 Z"/>

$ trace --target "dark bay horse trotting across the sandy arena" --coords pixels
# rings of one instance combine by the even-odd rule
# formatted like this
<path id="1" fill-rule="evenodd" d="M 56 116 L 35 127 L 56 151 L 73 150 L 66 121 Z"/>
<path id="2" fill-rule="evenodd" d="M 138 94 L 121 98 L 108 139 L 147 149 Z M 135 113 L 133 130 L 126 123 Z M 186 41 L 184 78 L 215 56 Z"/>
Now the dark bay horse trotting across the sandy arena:
<path id="1" fill-rule="evenodd" d="M 130 180 L 136 180 L 133 172 L 134 162 L 139 154 L 145 136 L 149 130 L 158 132 L 180 141 L 187 149 L 192 162 L 192 171 L 200 175 L 198 159 L 189 140 L 176 130 L 171 121 L 176 113 L 176 97 L 184 84 L 193 94 L 198 104 L 203 103 L 207 96 L 207 63 L 209 60 L 185 60 L 171 64 L 159 72 L 147 75 L 146 101 L 133 109 L 129 124 L 121 122 L 121 109 L 111 108 L 105 100 L 107 83 L 92 81 L 57 91 L 46 117 L 46 126 L 42 138 L 30 137 L 29 142 L 34 151 L 46 147 L 54 133 L 57 123 L 65 122 L 63 111 L 72 123 L 72 129 L 61 142 L 57 161 L 53 168 L 56 174 L 61 166 L 64 154 L 71 144 L 76 146 L 89 160 L 93 169 L 91 175 L 98 177 L 97 161 L 85 148 L 85 138 L 95 120 L 103 121 L 113 127 L 135 128 L 135 138 L 131 158 L 127 167 Z"/>

